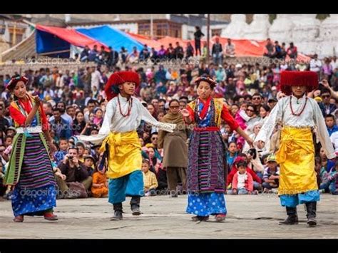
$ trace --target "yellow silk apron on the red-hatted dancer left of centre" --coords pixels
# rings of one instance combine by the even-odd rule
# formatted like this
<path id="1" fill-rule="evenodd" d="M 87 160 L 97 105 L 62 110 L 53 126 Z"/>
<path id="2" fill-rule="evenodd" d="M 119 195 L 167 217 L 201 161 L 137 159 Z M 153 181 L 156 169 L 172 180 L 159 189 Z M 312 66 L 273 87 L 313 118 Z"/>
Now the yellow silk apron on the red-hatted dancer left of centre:
<path id="1" fill-rule="evenodd" d="M 142 167 L 140 140 L 136 131 L 126 133 L 110 133 L 103 140 L 100 153 L 109 145 L 108 172 L 109 178 L 118 178 L 130 174 Z"/>

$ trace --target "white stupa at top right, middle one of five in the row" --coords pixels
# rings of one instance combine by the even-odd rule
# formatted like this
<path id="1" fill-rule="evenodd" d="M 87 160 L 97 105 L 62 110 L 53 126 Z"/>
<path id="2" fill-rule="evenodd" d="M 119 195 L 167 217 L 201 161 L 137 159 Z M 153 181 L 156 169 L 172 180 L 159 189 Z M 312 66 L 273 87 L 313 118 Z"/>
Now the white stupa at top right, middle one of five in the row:
<path id="1" fill-rule="evenodd" d="M 272 41 L 290 43 L 292 39 L 292 29 L 295 24 L 290 19 L 290 14 L 277 14 L 269 29 L 269 37 Z"/>

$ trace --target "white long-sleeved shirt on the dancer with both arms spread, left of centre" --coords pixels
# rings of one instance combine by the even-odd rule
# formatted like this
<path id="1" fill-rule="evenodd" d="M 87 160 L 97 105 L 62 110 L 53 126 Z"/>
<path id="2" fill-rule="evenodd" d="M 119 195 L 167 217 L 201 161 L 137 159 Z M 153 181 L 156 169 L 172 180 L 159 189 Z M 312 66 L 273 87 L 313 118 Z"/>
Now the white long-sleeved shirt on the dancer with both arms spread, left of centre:
<path id="1" fill-rule="evenodd" d="M 160 130 L 165 130 L 168 132 L 173 132 L 176 124 L 170 123 L 160 123 L 149 113 L 147 108 L 145 108 L 140 100 L 135 97 L 133 98 L 133 103 L 130 111 L 130 115 L 127 117 L 123 117 L 121 115 L 119 107 L 118 107 L 118 98 L 121 103 L 121 111 L 123 114 L 128 113 L 128 100 L 127 98 L 123 98 L 120 94 L 115 98 L 111 99 L 106 106 L 106 113 L 103 118 L 103 123 L 98 135 L 80 135 L 80 140 L 90 141 L 95 144 L 101 143 L 109 133 L 126 133 L 133 130 L 136 130 L 140 125 L 141 120 L 145 120 L 145 122 L 150 125 L 159 128 Z"/>

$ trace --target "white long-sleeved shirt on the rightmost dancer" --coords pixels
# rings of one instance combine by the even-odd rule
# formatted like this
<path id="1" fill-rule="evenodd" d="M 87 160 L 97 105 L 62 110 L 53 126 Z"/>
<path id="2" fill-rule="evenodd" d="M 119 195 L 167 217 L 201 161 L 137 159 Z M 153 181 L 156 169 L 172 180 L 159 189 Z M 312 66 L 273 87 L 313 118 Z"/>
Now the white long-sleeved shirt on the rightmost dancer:
<path id="1" fill-rule="evenodd" d="M 327 126 L 325 125 L 322 111 L 319 108 L 316 100 L 307 98 L 307 105 L 301 115 L 292 115 L 290 110 L 290 98 L 292 99 L 292 109 L 294 113 L 300 113 L 300 110 L 304 107 L 306 94 L 302 98 L 297 99 L 294 95 L 281 98 L 277 105 L 272 109 L 270 115 L 265 121 L 264 125 L 260 129 L 255 138 L 254 145 L 257 147 L 259 140 L 266 143 L 266 140 L 272 135 L 272 131 L 275 128 L 278 120 L 282 122 L 283 126 L 291 126 L 296 128 L 315 127 L 317 138 L 319 139 L 322 147 L 325 150 L 327 158 L 333 159 L 336 157 L 334 149 L 327 132 Z"/>

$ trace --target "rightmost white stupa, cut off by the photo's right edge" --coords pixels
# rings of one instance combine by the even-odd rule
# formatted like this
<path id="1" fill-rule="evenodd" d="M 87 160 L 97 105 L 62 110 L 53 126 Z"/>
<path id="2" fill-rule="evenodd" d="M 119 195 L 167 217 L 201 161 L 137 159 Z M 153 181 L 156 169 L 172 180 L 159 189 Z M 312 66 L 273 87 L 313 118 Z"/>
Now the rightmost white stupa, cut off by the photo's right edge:
<path id="1" fill-rule="evenodd" d="M 330 14 L 319 26 L 317 52 L 320 58 L 337 56 L 338 53 L 338 14 Z"/>

